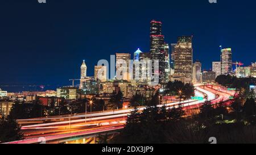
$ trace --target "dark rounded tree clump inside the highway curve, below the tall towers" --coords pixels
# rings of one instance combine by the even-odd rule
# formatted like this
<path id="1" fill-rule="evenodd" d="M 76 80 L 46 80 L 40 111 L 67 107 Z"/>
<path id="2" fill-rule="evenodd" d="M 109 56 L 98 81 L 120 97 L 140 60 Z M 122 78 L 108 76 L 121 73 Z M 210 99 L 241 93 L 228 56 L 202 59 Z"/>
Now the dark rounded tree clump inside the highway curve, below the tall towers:
<path id="1" fill-rule="evenodd" d="M 167 83 L 166 94 L 181 95 L 185 99 L 195 96 L 195 87 L 191 83 L 183 83 L 181 81 L 170 81 Z"/>

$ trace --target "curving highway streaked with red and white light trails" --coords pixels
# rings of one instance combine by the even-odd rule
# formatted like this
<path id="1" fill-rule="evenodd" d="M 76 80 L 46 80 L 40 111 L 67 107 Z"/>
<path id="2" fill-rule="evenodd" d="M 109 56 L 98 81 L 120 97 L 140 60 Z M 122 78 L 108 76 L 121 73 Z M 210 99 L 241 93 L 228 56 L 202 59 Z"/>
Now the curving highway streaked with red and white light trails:
<path id="1" fill-rule="evenodd" d="M 224 93 L 213 89 L 212 87 L 196 87 L 196 96 L 204 97 L 207 95 L 207 99 L 211 100 L 213 104 L 220 102 L 221 100 L 229 100 L 230 92 Z M 205 100 L 185 100 L 181 102 L 185 109 L 199 107 L 201 103 Z M 179 102 L 167 103 L 167 108 L 177 107 Z M 163 104 L 158 105 L 162 107 Z M 139 107 L 139 111 L 142 111 L 145 107 Z M 95 112 L 92 115 L 85 114 L 78 115 L 64 115 L 55 116 L 51 118 L 35 118 L 35 119 L 25 119 L 18 120 L 20 124 L 26 124 L 30 122 L 44 122 L 52 121 L 51 123 L 39 123 L 31 125 L 23 125 L 22 131 L 24 132 L 25 139 L 21 141 L 13 141 L 9 144 L 22 144 L 22 143 L 38 143 L 39 137 L 44 137 L 47 141 L 63 139 L 66 137 L 88 135 L 92 133 L 100 133 L 106 131 L 113 131 L 117 129 L 122 129 L 126 123 L 127 115 L 129 115 L 132 108 L 124 110 L 106 111 L 106 112 Z M 63 119 L 61 121 L 61 119 Z M 64 120 L 66 119 L 66 120 Z"/>

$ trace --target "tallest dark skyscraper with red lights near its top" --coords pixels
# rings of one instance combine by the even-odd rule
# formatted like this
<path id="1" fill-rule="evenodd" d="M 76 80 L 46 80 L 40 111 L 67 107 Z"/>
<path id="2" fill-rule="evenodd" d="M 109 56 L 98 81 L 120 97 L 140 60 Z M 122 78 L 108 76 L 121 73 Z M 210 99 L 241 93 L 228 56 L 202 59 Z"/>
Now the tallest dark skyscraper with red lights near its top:
<path id="1" fill-rule="evenodd" d="M 152 75 L 159 76 L 159 83 L 164 83 L 165 58 L 164 36 L 162 35 L 162 23 L 152 20 L 150 22 L 150 58 L 152 60 Z M 158 70 L 155 70 L 154 60 L 158 60 Z"/>

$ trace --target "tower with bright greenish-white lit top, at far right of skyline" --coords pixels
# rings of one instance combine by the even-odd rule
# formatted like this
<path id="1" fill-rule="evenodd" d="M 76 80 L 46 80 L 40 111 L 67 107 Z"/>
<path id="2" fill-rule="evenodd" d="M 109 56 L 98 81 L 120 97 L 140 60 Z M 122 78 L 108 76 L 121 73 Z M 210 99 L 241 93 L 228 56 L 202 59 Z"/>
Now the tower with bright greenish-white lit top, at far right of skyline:
<path id="1" fill-rule="evenodd" d="M 231 48 L 221 49 L 221 74 L 232 74 Z"/>

